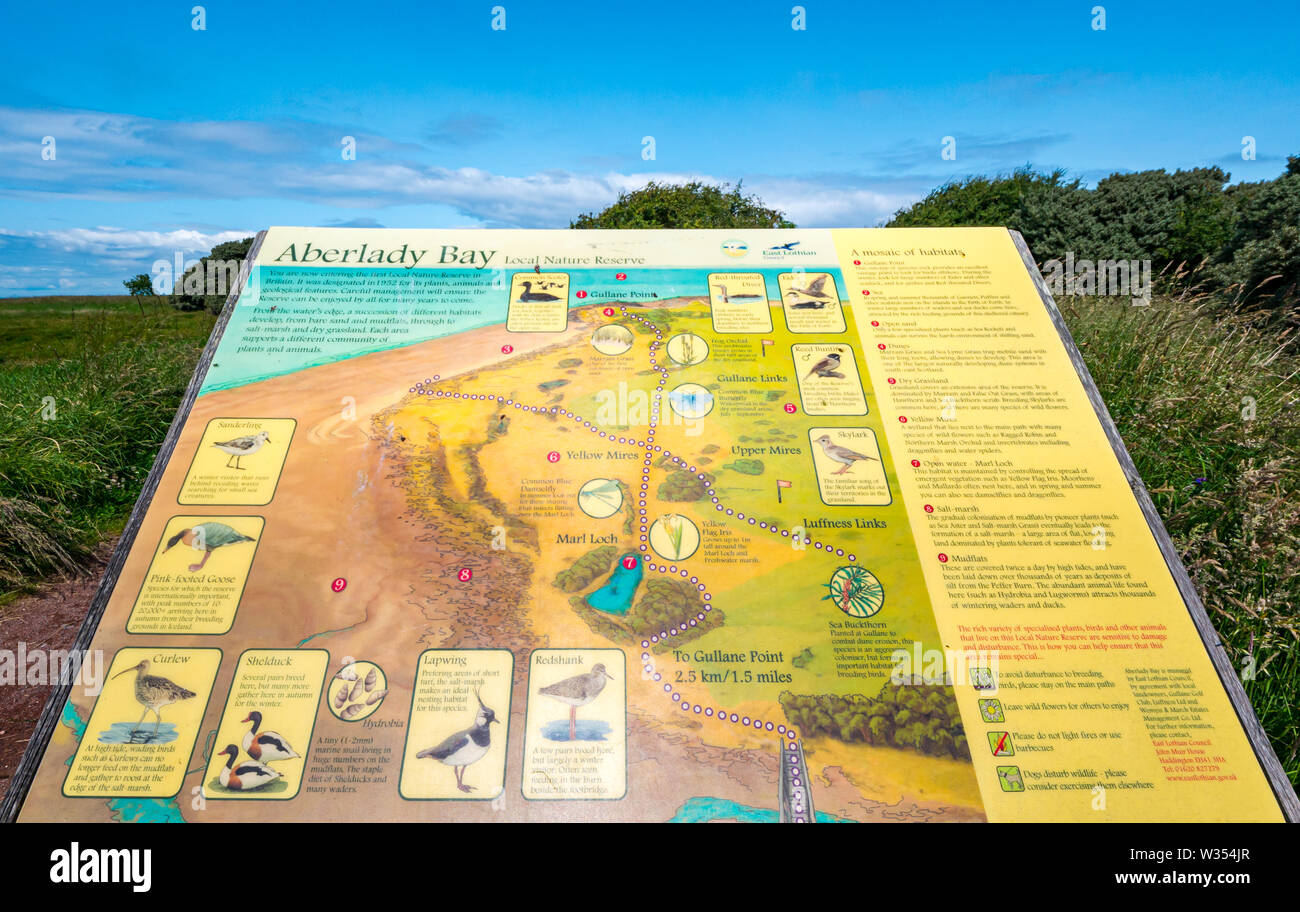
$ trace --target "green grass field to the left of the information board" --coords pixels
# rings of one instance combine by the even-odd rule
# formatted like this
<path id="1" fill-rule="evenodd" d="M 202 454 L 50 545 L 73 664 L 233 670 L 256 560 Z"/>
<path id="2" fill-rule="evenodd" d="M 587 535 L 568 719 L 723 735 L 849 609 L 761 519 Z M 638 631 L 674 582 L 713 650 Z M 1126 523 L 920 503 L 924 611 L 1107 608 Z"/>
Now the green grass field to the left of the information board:
<path id="1" fill-rule="evenodd" d="M 0 299 L 0 602 L 121 530 L 216 318 Z"/>

